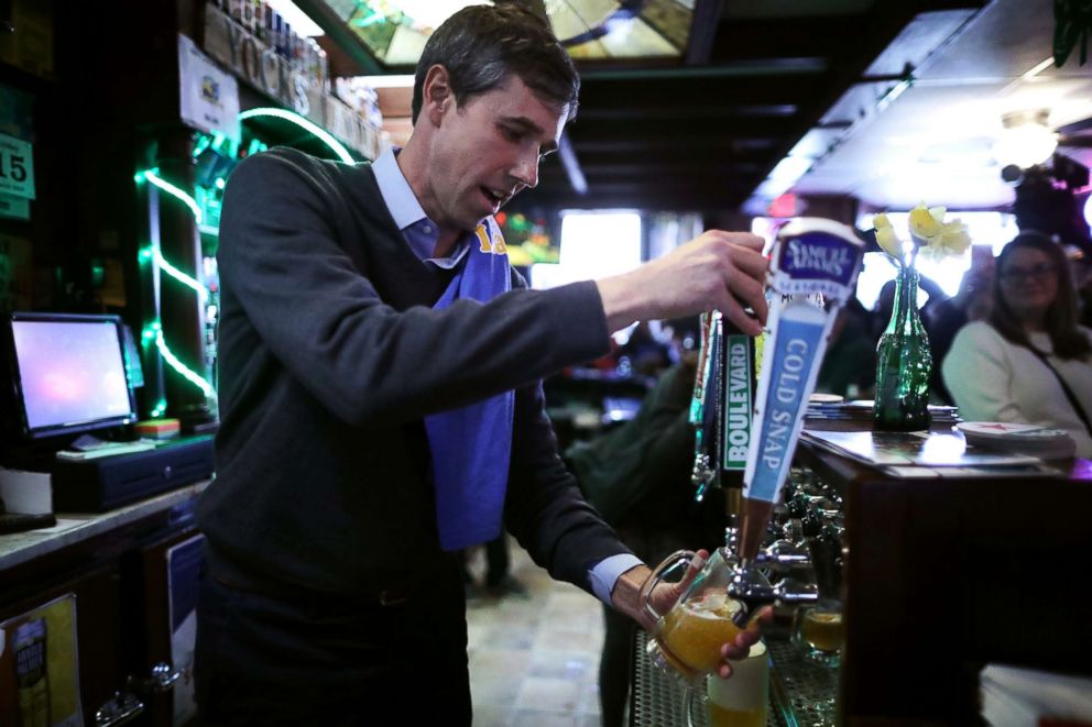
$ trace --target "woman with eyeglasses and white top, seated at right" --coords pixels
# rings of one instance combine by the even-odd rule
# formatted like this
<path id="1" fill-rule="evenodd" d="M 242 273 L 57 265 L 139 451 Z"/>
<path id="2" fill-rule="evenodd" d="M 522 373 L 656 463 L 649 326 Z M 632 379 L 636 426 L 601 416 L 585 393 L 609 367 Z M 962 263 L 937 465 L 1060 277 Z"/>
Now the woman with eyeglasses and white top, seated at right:
<path id="1" fill-rule="evenodd" d="M 961 329 L 943 362 L 960 416 L 1064 429 L 1092 458 L 1092 331 L 1077 321 L 1061 246 L 1018 234 L 997 256 L 992 315 Z"/>

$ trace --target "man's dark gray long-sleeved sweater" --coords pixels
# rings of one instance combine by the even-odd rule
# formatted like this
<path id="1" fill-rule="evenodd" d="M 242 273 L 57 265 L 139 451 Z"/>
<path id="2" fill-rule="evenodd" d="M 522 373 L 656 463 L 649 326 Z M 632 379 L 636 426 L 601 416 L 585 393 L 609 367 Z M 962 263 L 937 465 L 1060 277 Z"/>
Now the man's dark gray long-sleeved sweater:
<path id="1" fill-rule="evenodd" d="M 243 587 L 365 595 L 439 558 L 422 417 L 516 390 L 507 529 L 557 579 L 629 552 L 557 455 L 540 378 L 608 348 L 592 283 L 433 310 L 365 165 L 245 159 L 220 222 L 216 481 L 197 519 Z"/>

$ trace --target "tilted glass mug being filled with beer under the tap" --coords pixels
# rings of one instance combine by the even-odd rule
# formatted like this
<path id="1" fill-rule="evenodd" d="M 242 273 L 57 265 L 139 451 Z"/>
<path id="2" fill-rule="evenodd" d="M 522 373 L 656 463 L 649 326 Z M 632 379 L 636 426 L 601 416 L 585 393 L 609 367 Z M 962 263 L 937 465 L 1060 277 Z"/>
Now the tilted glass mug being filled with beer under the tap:
<path id="1" fill-rule="evenodd" d="M 667 613 L 657 613 L 648 601 L 653 590 L 673 576 L 684 577 L 694 559 L 695 553 L 689 550 L 668 555 L 653 571 L 640 596 L 645 613 L 656 620 L 648 640 L 648 658 L 668 674 L 691 684 L 700 683 L 701 678 L 721 664 L 720 648 L 739 636 L 742 629 L 733 619 L 744 608 L 728 595 L 734 569 L 725 549 L 719 548 Z"/>

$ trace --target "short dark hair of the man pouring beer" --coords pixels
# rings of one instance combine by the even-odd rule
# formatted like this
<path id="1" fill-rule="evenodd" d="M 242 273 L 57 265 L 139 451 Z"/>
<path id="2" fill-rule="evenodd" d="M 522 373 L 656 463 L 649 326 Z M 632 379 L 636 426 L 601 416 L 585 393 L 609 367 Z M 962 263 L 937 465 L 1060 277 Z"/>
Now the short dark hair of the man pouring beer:
<path id="1" fill-rule="evenodd" d="M 461 106 L 504 84 L 514 74 L 544 101 L 576 115 L 580 77 L 549 24 L 515 3 L 470 5 L 448 18 L 425 44 L 413 85 L 413 121 L 423 102 L 425 74 L 447 68 Z"/>

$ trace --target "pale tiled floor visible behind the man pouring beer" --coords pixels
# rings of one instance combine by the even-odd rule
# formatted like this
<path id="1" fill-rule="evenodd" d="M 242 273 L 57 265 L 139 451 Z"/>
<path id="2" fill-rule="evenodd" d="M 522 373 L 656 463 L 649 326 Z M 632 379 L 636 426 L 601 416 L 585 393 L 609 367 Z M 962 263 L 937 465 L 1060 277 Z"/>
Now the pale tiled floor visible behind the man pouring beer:
<path id="1" fill-rule="evenodd" d="M 557 583 L 512 541 L 511 573 L 527 596 L 467 609 L 476 727 L 593 727 L 599 719 L 601 603 Z M 480 552 L 471 560 L 479 580 Z"/>

